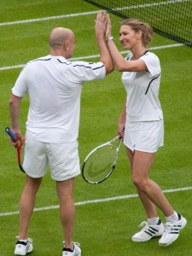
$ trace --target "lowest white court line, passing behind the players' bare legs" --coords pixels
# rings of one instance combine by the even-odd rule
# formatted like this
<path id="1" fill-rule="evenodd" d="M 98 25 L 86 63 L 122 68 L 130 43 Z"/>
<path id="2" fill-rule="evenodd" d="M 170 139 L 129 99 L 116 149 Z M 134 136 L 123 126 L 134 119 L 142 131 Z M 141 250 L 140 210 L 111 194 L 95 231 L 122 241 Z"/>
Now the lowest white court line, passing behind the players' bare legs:
<path id="1" fill-rule="evenodd" d="M 166 190 L 163 190 L 163 193 L 173 193 L 173 192 L 179 192 L 179 191 L 185 191 L 185 190 L 192 190 L 192 187 L 179 188 L 179 189 L 166 189 Z M 119 195 L 119 196 L 103 198 L 103 199 L 79 201 L 79 202 L 75 203 L 75 206 L 96 204 L 96 203 L 101 203 L 101 202 L 106 202 L 106 201 L 117 201 L 117 200 L 132 198 L 132 197 L 138 197 L 138 195 L 136 195 L 136 194 Z M 41 212 L 41 211 L 47 211 L 47 210 L 52 210 L 52 209 L 58 209 L 58 208 L 59 208 L 59 206 L 40 207 L 40 208 L 35 208 L 34 212 Z M 5 217 L 5 216 L 9 216 L 9 215 L 18 215 L 19 213 L 20 213 L 19 211 L 17 211 L 17 212 L 2 212 L 2 213 L 0 213 L 0 217 Z"/>

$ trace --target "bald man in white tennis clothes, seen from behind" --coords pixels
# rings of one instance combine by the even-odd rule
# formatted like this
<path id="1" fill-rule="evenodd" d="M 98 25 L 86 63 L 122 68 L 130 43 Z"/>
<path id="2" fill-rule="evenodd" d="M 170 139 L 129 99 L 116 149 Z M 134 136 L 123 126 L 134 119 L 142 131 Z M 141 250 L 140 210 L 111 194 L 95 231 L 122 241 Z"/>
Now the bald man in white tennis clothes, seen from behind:
<path id="1" fill-rule="evenodd" d="M 32 239 L 28 237 L 27 230 L 36 194 L 48 166 L 60 201 L 65 240 L 62 255 L 81 255 L 79 244 L 73 242 L 73 184 L 80 173 L 81 90 L 84 82 L 104 79 L 113 71 L 113 61 L 108 47 L 101 40 L 99 26 L 96 24 L 96 42 L 102 53 L 99 62 L 68 61 L 75 48 L 74 33 L 70 29 L 56 27 L 49 34 L 49 55 L 29 61 L 12 88 L 9 102 L 11 125 L 21 142 L 20 102 L 27 93 L 30 97 L 23 163 L 26 184 L 20 197 L 20 234 L 15 255 L 32 252 Z M 16 147 L 14 142 L 12 144 Z"/>

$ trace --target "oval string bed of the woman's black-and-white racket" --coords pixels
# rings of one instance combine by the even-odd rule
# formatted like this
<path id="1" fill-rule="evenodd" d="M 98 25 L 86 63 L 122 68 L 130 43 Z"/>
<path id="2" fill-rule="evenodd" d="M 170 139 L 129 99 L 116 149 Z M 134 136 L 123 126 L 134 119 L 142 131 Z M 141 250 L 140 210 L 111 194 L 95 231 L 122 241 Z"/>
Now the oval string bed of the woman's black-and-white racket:
<path id="1" fill-rule="evenodd" d="M 112 144 L 97 148 L 84 164 L 84 177 L 91 183 L 102 181 L 113 171 L 116 158 L 116 148 Z"/>

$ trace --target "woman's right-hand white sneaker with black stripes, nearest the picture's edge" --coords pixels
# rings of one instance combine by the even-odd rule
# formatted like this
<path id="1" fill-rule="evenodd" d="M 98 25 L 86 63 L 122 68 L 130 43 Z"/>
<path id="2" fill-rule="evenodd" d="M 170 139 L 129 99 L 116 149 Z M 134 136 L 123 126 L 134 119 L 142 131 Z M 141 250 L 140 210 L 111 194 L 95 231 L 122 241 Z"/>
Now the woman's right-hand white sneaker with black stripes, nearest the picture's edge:
<path id="1" fill-rule="evenodd" d="M 178 214 L 178 220 L 176 222 L 167 222 L 166 229 L 163 236 L 160 238 L 159 245 L 162 247 L 167 247 L 168 245 L 172 244 L 173 241 L 176 241 L 179 236 L 179 231 L 183 230 L 186 224 L 186 218 L 183 218 L 183 216 L 180 214 Z"/>

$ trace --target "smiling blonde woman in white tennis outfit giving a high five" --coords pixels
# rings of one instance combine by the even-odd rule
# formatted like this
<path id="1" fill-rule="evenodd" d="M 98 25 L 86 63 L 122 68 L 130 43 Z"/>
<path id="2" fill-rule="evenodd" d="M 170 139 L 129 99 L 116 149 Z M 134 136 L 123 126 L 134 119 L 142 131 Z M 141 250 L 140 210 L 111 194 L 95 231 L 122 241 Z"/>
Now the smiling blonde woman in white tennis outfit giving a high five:
<path id="1" fill-rule="evenodd" d="M 102 15 L 105 15 L 104 13 Z M 118 133 L 124 137 L 126 153 L 131 165 L 132 181 L 143 203 L 148 221 L 143 229 L 132 236 L 132 241 L 148 241 L 161 236 L 160 246 L 168 246 L 177 240 L 180 230 L 187 223 L 175 212 L 159 185 L 148 177 L 154 157 L 164 143 L 164 121 L 159 100 L 160 61 L 148 50 L 152 28 L 140 20 L 129 19 L 121 23 L 119 42 L 131 53 L 124 58 L 117 49 L 111 33 L 108 15 L 103 40 L 106 40 L 113 63 L 122 72 L 122 82 L 127 96 L 119 116 Z M 97 16 L 99 18 L 100 16 Z M 96 22 L 101 20 L 96 20 Z M 164 213 L 166 225 L 162 224 L 156 207 Z"/>

